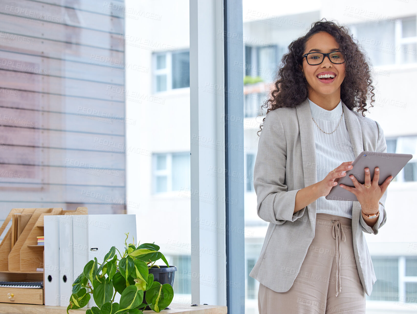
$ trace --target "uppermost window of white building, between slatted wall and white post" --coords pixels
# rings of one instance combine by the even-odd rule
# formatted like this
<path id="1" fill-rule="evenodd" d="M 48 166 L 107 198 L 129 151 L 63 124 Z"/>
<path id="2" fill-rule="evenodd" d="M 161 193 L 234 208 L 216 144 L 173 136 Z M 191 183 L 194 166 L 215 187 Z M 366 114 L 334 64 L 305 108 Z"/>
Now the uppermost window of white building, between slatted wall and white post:
<path id="1" fill-rule="evenodd" d="M 168 51 L 153 54 L 154 91 L 190 87 L 190 51 Z"/>

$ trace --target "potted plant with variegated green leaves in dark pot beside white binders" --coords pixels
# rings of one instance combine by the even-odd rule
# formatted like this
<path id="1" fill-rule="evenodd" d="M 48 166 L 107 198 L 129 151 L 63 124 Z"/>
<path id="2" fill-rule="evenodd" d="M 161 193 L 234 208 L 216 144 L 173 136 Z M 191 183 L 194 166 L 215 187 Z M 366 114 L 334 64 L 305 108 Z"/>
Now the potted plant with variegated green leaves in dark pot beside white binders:
<path id="1" fill-rule="evenodd" d="M 123 255 L 112 246 L 103 263 L 94 258 L 85 265 L 73 283 L 67 313 L 86 306 L 91 295 L 98 306 L 86 314 L 143 314 L 145 308 L 160 312 L 171 304 L 176 266 L 168 265 L 156 244 L 127 244 L 128 237 L 127 233 Z M 159 259 L 166 266 L 154 265 Z M 119 303 L 114 301 L 116 293 L 121 294 Z"/>

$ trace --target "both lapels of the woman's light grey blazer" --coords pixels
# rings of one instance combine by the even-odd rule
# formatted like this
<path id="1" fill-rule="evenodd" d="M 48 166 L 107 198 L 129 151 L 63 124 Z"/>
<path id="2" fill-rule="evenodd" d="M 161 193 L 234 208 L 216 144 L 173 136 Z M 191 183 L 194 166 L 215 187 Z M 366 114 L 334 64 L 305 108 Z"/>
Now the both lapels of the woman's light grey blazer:
<path id="1" fill-rule="evenodd" d="M 355 156 L 358 156 L 359 153 L 362 153 L 364 150 L 363 141 L 362 141 L 362 129 L 358 121 L 358 118 L 355 114 L 347 108 L 343 103 L 343 112 L 344 112 L 344 121 L 346 124 L 347 131 L 349 132 L 349 138 L 352 144 L 353 152 Z M 300 129 L 300 139 L 301 139 L 301 153 L 303 161 L 303 171 L 304 171 L 304 187 L 310 186 L 317 182 L 317 165 L 316 165 L 316 142 L 314 137 L 314 122 L 311 118 L 311 110 L 308 99 L 304 100 L 301 104 L 296 106 L 296 113 Z M 316 218 L 316 204 L 317 202 L 311 203 L 311 206 L 307 206 L 309 211 L 309 216 Z M 359 202 L 353 203 L 352 211 L 352 221 L 359 221 L 359 211 L 358 208 Z M 311 228 L 315 228 L 314 225 Z"/>

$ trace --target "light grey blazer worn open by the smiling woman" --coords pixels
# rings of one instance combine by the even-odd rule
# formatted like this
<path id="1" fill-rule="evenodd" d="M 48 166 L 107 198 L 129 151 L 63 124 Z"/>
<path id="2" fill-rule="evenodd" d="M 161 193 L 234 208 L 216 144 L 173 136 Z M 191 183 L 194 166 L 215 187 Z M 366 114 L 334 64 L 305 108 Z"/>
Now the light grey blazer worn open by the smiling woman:
<path id="1" fill-rule="evenodd" d="M 343 102 L 342 106 L 355 156 L 362 151 L 386 152 L 379 123 L 350 111 Z M 313 127 L 306 99 L 295 108 L 270 111 L 259 137 L 254 188 L 258 216 L 268 221 L 269 226 L 259 259 L 249 276 L 276 292 L 291 288 L 314 238 L 317 201 L 293 214 L 297 191 L 317 182 Z M 359 278 L 368 296 L 376 277 L 363 233 L 377 234 L 385 224 L 386 198 L 387 191 L 380 199 L 380 214 L 372 228 L 365 223 L 359 202 L 353 202 L 353 249 Z"/>

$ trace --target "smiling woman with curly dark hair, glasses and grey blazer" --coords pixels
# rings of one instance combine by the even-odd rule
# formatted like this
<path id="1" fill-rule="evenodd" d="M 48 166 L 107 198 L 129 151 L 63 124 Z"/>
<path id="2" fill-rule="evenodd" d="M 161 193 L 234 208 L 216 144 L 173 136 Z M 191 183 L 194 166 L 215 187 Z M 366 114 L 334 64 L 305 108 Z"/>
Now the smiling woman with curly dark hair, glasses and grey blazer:
<path id="1" fill-rule="evenodd" d="M 359 153 L 387 151 L 379 123 L 363 114 L 368 93 L 374 101 L 369 66 L 348 30 L 327 20 L 282 63 L 254 166 L 258 216 L 270 222 L 250 273 L 259 313 L 365 313 L 376 277 L 363 233 L 385 224 L 392 176 L 379 186 L 379 169 L 371 182 L 365 168 L 364 184 L 352 176 L 354 187 L 340 185 L 358 201 L 325 196 Z"/>

